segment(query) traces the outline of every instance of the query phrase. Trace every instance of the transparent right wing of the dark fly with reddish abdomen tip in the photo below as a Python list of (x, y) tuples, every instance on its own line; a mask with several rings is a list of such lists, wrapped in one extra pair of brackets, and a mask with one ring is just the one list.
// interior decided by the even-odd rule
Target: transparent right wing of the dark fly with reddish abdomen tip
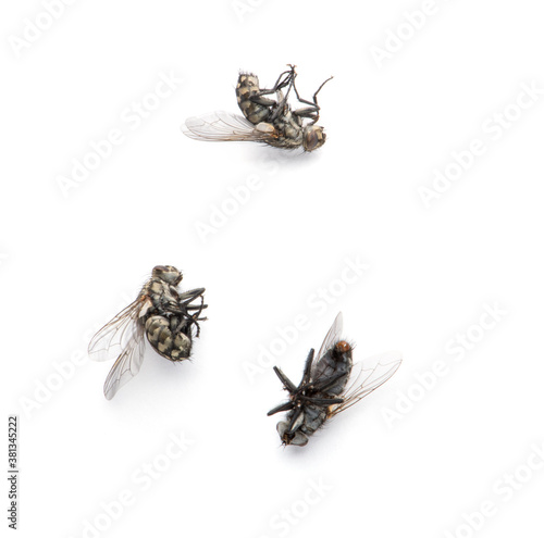
[(333, 405), (330, 416), (345, 411), (382, 386), (398, 370), (401, 362), (400, 353), (390, 351), (367, 359), (364, 363), (355, 364), (351, 371), (353, 380), (343, 395), (344, 402)]

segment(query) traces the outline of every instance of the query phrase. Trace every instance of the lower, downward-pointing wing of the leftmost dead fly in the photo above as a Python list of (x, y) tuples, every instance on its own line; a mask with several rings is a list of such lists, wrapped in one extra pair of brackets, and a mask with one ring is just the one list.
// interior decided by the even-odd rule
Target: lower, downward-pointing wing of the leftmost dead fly
[(103, 395), (107, 400), (111, 400), (118, 390), (139, 372), (144, 362), (144, 324), (137, 322), (134, 327), (132, 337), (106, 378)]

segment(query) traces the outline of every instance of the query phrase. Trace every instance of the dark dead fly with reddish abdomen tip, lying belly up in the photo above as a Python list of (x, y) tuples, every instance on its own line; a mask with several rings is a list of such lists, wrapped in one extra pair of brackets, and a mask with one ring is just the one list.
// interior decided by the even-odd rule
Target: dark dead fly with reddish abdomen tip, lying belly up
[(339, 313), (316, 360), (313, 349), (310, 350), (298, 386), (274, 366), (274, 372), (289, 393), (289, 400), (268, 414), (288, 412), (286, 420), (277, 423), (277, 433), (284, 445), (304, 447), (329, 418), (370, 395), (400, 366), (400, 356), (394, 352), (374, 358), (373, 366), (366, 367), (361, 363), (354, 366), (353, 350), (353, 345), (342, 339)]

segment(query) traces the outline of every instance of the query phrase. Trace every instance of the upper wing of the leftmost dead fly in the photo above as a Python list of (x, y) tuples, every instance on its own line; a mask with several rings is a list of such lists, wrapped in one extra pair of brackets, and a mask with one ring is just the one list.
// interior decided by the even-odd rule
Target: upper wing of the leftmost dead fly
[(94, 361), (107, 361), (118, 356), (134, 337), (137, 320), (147, 299), (138, 297), (108, 322), (90, 340), (88, 353)]

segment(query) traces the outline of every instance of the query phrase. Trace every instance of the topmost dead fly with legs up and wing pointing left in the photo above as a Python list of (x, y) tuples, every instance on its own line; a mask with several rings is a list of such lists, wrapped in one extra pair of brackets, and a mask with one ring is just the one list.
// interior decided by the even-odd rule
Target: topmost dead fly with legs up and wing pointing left
[[(323, 127), (316, 125), (320, 111), (318, 93), (332, 77), (317, 89), (310, 101), (299, 96), (296, 76), (295, 66), (289, 65), (289, 70), (277, 77), (271, 89), (262, 89), (257, 75), (240, 73), (236, 99), (244, 117), (230, 112), (214, 112), (189, 117), (182, 129), (196, 140), (254, 141), (284, 149), (302, 147), (305, 151), (321, 148), (326, 135)], [(304, 108), (292, 110), (287, 101), (290, 90)]]

